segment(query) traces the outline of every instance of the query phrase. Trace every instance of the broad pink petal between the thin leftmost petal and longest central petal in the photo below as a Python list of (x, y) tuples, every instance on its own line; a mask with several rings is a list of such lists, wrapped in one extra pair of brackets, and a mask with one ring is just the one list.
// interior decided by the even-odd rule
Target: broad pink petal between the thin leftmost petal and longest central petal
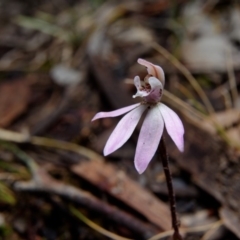
[(104, 156), (116, 151), (130, 138), (146, 108), (146, 105), (141, 105), (120, 120), (106, 143)]

